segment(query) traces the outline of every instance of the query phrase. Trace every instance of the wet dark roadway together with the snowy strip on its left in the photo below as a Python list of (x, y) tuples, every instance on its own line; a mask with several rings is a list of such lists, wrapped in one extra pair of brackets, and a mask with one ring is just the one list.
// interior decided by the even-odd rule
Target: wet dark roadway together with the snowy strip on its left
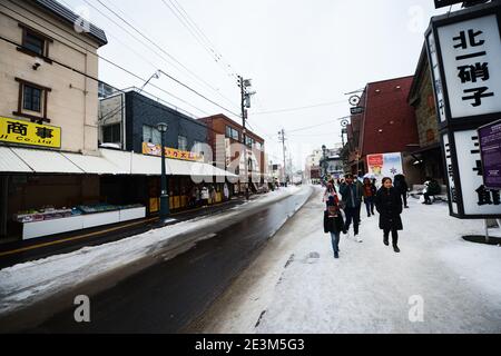
[[(282, 188), (209, 217), (4, 268), (0, 329), (45, 323), (39, 330), (175, 333), (205, 310), (312, 191)], [(75, 323), (77, 295), (92, 300), (89, 325)]]

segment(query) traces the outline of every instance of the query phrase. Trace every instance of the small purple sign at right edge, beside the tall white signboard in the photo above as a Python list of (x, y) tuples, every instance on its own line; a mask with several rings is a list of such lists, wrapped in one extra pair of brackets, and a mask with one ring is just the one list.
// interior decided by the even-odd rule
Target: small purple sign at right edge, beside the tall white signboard
[(488, 189), (501, 189), (501, 120), (479, 128), (483, 184)]

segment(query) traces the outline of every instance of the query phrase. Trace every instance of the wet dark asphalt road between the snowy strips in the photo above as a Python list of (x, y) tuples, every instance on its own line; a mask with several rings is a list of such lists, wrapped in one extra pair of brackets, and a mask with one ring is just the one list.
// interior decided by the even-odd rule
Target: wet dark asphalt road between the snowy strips
[(90, 323), (76, 323), (76, 306), (69, 306), (27, 332), (183, 333), (253, 261), (302, 199), (293, 195), (268, 205), (174, 259), (91, 297)]

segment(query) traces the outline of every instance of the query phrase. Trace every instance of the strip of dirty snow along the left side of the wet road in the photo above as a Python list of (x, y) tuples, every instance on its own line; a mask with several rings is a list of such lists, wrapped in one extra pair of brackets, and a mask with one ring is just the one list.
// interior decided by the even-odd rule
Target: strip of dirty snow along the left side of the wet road
[[(197, 241), (214, 236), (212, 228), (222, 228), (248, 211), (286, 198), (306, 194), (310, 187), (282, 188), (259, 196), (244, 205), (214, 216), (195, 218), (164, 228), (77, 251), (16, 265), (0, 270), (0, 317), (75, 288), (124, 266), (156, 258), (169, 259), (191, 248)], [(124, 276), (121, 276), (124, 277)]]

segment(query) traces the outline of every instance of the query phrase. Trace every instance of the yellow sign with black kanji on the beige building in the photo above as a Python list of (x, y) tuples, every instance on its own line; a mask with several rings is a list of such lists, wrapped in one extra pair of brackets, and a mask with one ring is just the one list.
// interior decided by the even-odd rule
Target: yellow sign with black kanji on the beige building
[(61, 128), (0, 117), (0, 141), (60, 148)]

